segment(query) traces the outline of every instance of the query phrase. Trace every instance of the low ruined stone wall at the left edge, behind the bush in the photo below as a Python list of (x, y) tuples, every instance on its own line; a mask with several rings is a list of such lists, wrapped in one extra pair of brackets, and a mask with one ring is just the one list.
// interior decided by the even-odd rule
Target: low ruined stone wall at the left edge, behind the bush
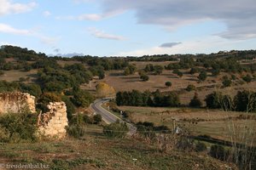
[(0, 94), (0, 114), (24, 110), (36, 112), (34, 96), (20, 92)]

